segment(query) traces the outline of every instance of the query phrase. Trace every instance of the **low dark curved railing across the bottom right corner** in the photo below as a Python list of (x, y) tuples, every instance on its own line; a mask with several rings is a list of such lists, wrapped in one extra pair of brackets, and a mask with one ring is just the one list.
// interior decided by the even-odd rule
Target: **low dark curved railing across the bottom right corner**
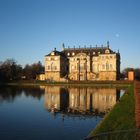
[(84, 140), (140, 140), (140, 129), (105, 132)]

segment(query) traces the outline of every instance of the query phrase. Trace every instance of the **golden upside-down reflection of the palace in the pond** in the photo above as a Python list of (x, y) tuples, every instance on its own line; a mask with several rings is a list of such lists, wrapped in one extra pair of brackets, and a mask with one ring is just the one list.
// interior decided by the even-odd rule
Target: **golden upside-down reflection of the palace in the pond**
[(44, 104), (51, 112), (106, 113), (119, 97), (115, 88), (46, 86)]

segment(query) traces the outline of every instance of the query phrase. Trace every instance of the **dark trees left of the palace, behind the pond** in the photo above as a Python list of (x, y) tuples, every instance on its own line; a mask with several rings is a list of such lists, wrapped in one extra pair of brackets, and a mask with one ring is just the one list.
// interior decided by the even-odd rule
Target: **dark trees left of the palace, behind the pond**
[(34, 80), (36, 75), (44, 72), (44, 66), (40, 61), (33, 64), (26, 64), (22, 67), (14, 59), (7, 59), (0, 62), (0, 81)]

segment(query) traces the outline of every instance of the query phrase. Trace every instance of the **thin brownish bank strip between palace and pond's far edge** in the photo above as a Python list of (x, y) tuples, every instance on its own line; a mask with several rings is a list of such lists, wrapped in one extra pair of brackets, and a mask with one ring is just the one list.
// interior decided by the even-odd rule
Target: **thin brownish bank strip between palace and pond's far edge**
[(130, 81), (69, 81), (69, 82), (46, 82), (46, 81), (11, 81), (0, 83), (6, 86), (94, 86), (94, 87), (128, 87)]

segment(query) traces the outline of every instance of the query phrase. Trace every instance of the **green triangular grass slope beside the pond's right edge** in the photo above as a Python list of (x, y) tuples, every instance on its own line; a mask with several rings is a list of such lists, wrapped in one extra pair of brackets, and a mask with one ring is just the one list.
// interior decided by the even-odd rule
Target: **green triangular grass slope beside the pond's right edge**
[(131, 85), (111, 112), (105, 116), (103, 121), (89, 134), (89, 136), (94, 136), (108, 131), (135, 128), (135, 105), (133, 92), (133, 85)]

